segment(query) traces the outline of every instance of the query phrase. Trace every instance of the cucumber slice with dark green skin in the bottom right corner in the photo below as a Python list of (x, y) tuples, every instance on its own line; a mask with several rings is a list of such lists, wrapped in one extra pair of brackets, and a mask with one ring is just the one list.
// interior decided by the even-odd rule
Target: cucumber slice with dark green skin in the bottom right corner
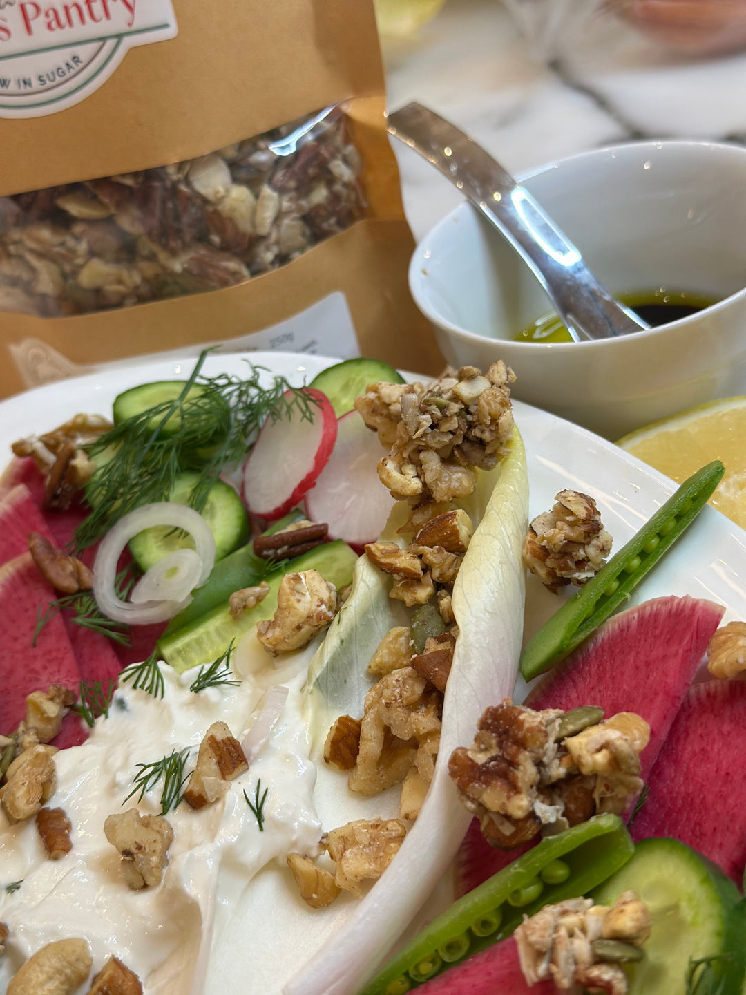
[[(746, 970), (746, 918), (738, 889), (723, 872), (678, 840), (643, 840), (621, 871), (593, 893), (612, 904), (635, 892), (648, 905), (652, 930), (645, 956), (625, 965), (629, 995), (687, 995), (739, 992)], [(690, 965), (713, 958), (712, 983), (687, 987)]]

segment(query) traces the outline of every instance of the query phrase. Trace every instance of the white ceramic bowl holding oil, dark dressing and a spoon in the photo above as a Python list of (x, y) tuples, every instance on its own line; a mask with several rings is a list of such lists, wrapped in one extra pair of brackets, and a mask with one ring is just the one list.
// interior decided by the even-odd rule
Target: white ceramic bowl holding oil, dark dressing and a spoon
[(466, 202), (418, 246), (410, 287), (455, 366), (502, 358), (513, 393), (616, 439), (715, 397), (746, 393), (746, 148), (636, 142), (522, 177), (614, 294), (665, 287), (718, 302), (595, 342), (513, 340), (552, 309), (502, 237)]

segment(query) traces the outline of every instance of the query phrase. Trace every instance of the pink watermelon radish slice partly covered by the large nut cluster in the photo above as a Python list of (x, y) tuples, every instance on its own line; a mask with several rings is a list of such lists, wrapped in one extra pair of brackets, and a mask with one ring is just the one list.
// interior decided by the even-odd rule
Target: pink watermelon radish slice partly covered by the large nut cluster
[[(647, 780), (723, 611), (711, 601), (667, 597), (621, 612), (540, 679), (525, 703), (566, 711), (596, 704), (607, 715), (636, 711), (651, 726), (641, 754)], [(457, 859), (457, 894), (470, 892), (523, 852), (492, 849), (472, 822)]]

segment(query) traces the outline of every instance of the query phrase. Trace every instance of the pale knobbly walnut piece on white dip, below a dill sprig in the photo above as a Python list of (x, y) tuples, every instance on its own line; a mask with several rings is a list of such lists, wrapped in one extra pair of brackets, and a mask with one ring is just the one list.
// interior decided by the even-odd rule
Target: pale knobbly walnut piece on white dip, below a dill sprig
[(135, 808), (109, 815), (103, 823), (106, 839), (121, 854), (124, 881), (133, 891), (159, 885), (173, 843), (169, 822), (158, 815), (140, 815)]

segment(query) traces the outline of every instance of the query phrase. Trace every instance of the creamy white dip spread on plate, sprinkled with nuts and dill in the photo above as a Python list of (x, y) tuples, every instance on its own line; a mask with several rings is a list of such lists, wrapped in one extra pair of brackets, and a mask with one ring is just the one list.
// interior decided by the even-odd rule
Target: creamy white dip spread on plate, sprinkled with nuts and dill
[[(88, 741), (56, 754), (58, 787), (48, 804), (63, 808), (73, 824), (73, 850), (62, 860), (47, 859), (33, 819), (10, 826), (0, 814), (0, 920), (10, 931), (0, 958), (0, 992), (30, 954), (65, 936), (88, 940), (93, 971), (112, 954), (119, 957), (148, 995), (202, 990), (216, 911), (219, 920), (230, 918), (254, 875), (276, 858), (284, 881), (288, 853), (318, 849), (315, 767), (301, 716), (307, 660), (305, 654), (293, 655), (294, 664), (288, 661), (279, 671), (264, 664), (262, 673), (236, 687), (199, 694), (189, 691), (195, 672), (180, 677), (165, 665), (162, 699), (120, 687), (108, 717), (96, 721)], [(270, 741), (249, 770), (230, 782), (221, 801), (199, 812), (182, 803), (168, 813), (174, 840), (163, 882), (131, 891), (103, 822), (132, 806), (159, 813), (162, 785), (141, 802), (136, 796), (124, 802), (137, 765), (189, 746), (186, 770), (191, 770), (212, 722), (227, 722), (240, 739), (266, 686), (280, 682), (289, 694)], [(246, 790), (254, 800), (260, 778), (262, 793), (268, 791), (263, 832), (244, 798)], [(7, 885), (18, 881), (19, 890), (7, 894)], [(312, 915), (309, 909), (305, 913)], [(247, 925), (244, 918), (244, 929)]]

